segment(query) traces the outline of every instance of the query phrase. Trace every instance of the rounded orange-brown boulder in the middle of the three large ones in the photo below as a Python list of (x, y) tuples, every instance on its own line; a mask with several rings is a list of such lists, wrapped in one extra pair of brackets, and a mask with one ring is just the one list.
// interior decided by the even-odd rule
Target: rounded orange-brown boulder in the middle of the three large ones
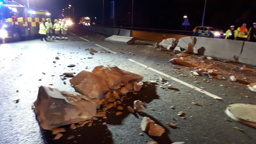
[(70, 83), (76, 92), (90, 98), (100, 99), (110, 91), (104, 78), (85, 70), (70, 79)]

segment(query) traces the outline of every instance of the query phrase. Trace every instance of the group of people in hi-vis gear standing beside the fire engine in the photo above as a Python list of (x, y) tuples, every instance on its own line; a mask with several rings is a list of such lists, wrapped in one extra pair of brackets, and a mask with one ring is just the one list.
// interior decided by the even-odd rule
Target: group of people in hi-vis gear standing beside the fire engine
[(41, 41), (46, 41), (46, 36), (48, 40), (51, 38), (53, 40), (67, 40), (67, 31), (68, 24), (66, 19), (55, 19), (54, 24), (52, 24), (49, 18), (46, 19), (46, 22), (42, 21), (39, 25), (39, 34)]

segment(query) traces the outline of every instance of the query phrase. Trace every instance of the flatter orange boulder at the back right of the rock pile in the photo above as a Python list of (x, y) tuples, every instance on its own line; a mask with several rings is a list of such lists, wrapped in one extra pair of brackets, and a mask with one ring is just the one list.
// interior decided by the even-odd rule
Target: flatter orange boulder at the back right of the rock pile
[(106, 80), (109, 87), (117, 85), (120, 82), (140, 82), (143, 79), (141, 75), (121, 70), (118, 67), (97, 66), (92, 72), (102, 76)]

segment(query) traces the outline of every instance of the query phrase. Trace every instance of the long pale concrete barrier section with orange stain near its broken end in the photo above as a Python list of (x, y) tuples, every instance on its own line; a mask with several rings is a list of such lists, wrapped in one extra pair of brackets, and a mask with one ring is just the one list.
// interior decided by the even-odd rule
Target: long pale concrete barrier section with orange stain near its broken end
[(180, 38), (177, 47), (200, 55), (233, 61), (240, 56), (243, 41), (192, 36)]

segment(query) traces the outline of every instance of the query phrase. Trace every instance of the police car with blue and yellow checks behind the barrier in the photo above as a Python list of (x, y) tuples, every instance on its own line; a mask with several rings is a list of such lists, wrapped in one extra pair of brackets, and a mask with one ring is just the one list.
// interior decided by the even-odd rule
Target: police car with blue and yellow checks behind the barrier
[(210, 37), (210, 38), (225, 38), (225, 33), (215, 30), (213, 27), (195, 27), (193, 30), (194, 36)]

